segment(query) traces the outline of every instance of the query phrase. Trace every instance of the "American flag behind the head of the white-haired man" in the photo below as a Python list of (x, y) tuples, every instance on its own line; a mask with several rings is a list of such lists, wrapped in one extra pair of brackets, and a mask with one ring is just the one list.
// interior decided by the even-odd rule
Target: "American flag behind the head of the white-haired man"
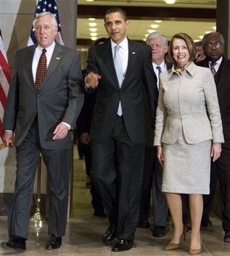
[[(56, 0), (38, 0), (38, 4), (35, 10), (35, 16), (43, 12), (50, 12), (55, 15), (58, 22), (58, 34), (56, 36), (56, 40), (59, 44), (64, 45), (64, 42), (61, 36), (61, 24), (58, 16), (58, 5), (56, 3)], [(34, 28), (32, 25), (30, 38), (27, 42), (27, 46), (35, 45), (36, 43), (37, 43), (37, 40), (35, 39)]]

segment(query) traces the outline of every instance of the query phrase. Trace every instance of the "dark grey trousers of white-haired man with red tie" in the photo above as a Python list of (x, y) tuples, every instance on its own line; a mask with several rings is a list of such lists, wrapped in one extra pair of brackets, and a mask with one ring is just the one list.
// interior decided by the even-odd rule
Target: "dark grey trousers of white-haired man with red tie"
[(67, 223), (72, 149), (46, 150), (40, 148), (35, 122), (31, 125), (24, 141), (16, 147), (15, 191), (8, 209), (9, 237), (18, 235), (27, 239), (33, 184), (40, 153), (47, 166), (50, 190), (48, 233), (62, 237), (65, 234)]

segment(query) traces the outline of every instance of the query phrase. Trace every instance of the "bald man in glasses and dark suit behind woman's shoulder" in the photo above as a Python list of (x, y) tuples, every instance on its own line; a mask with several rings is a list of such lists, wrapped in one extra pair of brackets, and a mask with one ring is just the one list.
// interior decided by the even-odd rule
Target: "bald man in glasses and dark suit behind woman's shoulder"
[[(225, 232), (223, 241), (230, 243), (230, 60), (223, 56), (224, 39), (220, 33), (212, 32), (206, 34), (203, 36), (202, 43), (206, 59), (197, 62), (197, 65), (211, 68), (214, 74), (225, 140), (220, 158), (212, 163), (210, 196), (212, 193), (214, 194), (215, 181), (212, 183), (212, 180), (217, 175), (220, 183), (220, 206), (222, 209), (223, 230)], [(204, 198), (204, 203), (206, 202), (210, 205), (209, 196), (206, 197), (207, 200)], [(210, 210), (211, 207), (212, 204)], [(205, 205), (204, 209), (209, 210)]]

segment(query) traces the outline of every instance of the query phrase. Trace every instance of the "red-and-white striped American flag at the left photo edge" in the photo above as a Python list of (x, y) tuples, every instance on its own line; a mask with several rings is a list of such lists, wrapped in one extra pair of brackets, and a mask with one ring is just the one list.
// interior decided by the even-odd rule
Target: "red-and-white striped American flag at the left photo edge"
[(0, 148), (3, 148), (2, 136), (2, 120), (4, 107), (7, 102), (7, 94), (10, 87), (10, 68), (7, 62), (7, 53), (4, 50), (4, 45), (0, 30)]

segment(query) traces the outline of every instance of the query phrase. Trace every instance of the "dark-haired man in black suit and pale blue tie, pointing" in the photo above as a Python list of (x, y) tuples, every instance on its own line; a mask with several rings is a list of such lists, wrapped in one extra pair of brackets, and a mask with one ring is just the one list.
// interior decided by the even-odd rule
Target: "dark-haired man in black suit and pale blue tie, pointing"
[(90, 131), (92, 178), (109, 217), (103, 241), (117, 237), (112, 251), (121, 252), (132, 248), (138, 226), (146, 142), (143, 90), (154, 125), (158, 88), (151, 47), (126, 38), (124, 10), (112, 7), (104, 22), (110, 40), (89, 48), (85, 78), (89, 91), (97, 88)]

